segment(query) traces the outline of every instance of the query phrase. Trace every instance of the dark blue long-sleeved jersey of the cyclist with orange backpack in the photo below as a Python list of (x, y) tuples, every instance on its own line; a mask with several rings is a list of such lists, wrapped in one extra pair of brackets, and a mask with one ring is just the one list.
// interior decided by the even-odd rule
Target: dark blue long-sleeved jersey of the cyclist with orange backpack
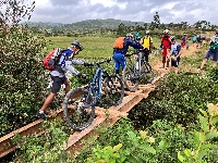
[(130, 39), (129, 37), (124, 38), (124, 46), (123, 49), (119, 50), (119, 49), (114, 49), (113, 53), (122, 53), (122, 54), (126, 54), (128, 49), (130, 47), (133, 47), (134, 49), (143, 49), (143, 46), (140, 42), (136, 42), (132, 39)]

